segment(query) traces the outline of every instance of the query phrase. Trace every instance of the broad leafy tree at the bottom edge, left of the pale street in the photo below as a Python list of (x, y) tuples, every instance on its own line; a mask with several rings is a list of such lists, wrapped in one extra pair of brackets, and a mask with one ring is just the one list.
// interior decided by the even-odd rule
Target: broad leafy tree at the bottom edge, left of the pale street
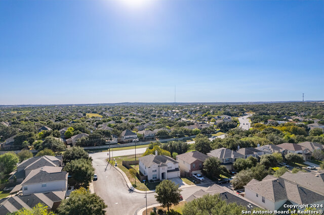
[(107, 205), (95, 193), (90, 193), (85, 188), (71, 192), (69, 198), (64, 199), (57, 208), (58, 215), (104, 215)]

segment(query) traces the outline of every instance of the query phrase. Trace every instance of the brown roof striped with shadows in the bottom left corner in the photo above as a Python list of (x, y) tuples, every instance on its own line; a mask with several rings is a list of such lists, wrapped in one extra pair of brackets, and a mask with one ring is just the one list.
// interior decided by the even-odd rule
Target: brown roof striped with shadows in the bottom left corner
[(31, 209), (38, 203), (47, 206), (48, 211), (56, 210), (65, 198), (65, 191), (32, 193), (0, 199), (0, 215), (13, 213), (21, 208)]

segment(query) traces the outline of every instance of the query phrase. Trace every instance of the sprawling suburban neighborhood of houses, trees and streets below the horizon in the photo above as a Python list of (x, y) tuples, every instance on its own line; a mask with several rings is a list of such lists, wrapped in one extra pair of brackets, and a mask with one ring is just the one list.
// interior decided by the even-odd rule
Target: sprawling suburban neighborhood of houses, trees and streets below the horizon
[(94, 201), (97, 214), (194, 214), (193, 205), (214, 198), (234, 211), (321, 205), (324, 136), (312, 124), (324, 124), (323, 107), (4, 106), (0, 214), (69, 214)]

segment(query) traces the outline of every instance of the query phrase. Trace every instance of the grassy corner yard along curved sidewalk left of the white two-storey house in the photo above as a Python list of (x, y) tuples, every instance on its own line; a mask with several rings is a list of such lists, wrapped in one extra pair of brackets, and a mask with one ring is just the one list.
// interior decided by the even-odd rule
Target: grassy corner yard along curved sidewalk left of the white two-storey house
[[(123, 166), (123, 160), (124, 161), (131, 161), (131, 160), (135, 160), (135, 156), (134, 155), (128, 155), (128, 156), (119, 156), (119, 157), (114, 157), (116, 162), (117, 162), (117, 167), (123, 171), (126, 176), (128, 177), (128, 179), (130, 180), (130, 182), (132, 183), (133, 187), (138, 189), (138, 190), (145, 190), (145, 188), (147, 188), (147, 190), (155, 190), (155, 187), (159, 184), (159, 182), (146, 182), (145, 184), (142, 183), (140, 180), (138, 180), (138, 178), (136, 177), (136, 186), (135, 186), (135, 178), (130, 174), (129, 170)], [(138, 160), (139, 157), (136, 156), (136, 159)], [(111, 160), (110, 164), (114, 165), (115, 163)], [(139, 172), (139, 166), (138, 165), (132, 165), (132, 167)]]

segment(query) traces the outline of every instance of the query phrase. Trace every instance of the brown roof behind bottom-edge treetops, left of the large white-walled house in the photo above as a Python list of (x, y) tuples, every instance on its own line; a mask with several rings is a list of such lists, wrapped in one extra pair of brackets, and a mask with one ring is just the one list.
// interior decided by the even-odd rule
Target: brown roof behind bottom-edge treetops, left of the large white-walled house
[(241, 206), (245, 206), (247, 210), (252, 210), (253, 208), (256, 208), (255, 204), (253, 202), (248, 201), (248, 199), (243, 198), (240, 195), (232, 194), (224, 189), (224, 187), (221, 187), (217, 184), (214, 184), (210, 186), (206, 191), (203, 189), (198, 190), (197, 192), (193, 193), (191, 196), (186, 198), (186, 202), (190, 202), (194, 199), (203, 197), (204, 195), (215, 195), (218, 194), (220, 198), (224, 201), (226, 201), (227, 204), (229, 203), (236, 203)]

